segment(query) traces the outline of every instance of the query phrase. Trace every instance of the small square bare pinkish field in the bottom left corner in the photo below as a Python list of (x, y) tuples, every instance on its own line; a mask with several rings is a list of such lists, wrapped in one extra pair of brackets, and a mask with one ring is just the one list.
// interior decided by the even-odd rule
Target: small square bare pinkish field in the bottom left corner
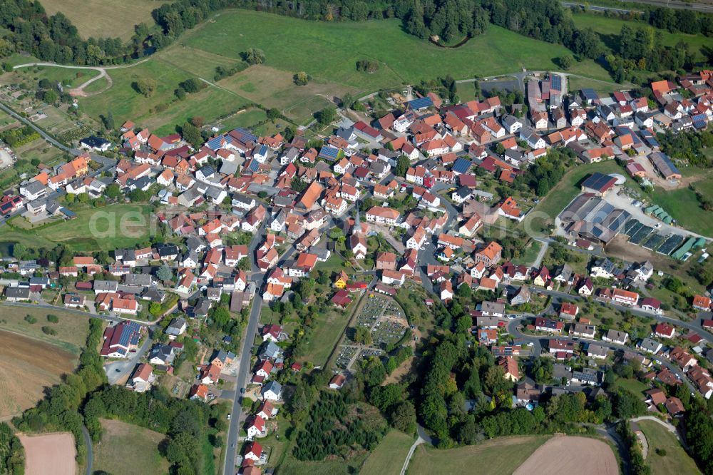
[(19, 435), (19, 439), (25, 448), (26, 475), (76, 474), (76, 450), (72, 434)]

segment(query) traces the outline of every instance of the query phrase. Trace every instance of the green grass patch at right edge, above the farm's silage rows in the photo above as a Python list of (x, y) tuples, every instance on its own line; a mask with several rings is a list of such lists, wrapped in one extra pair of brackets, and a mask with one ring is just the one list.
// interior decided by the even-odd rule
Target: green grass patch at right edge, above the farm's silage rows
[[(710, 196), (713, 179), (699, 181), (694, 186)], [(679, 226), (704, 236), (713, 236), (713, 213), (702, 208), (696, 193), (687, 186), (678, 190), (655, 188), (650, 198), (653, 203), (664, 208)]]

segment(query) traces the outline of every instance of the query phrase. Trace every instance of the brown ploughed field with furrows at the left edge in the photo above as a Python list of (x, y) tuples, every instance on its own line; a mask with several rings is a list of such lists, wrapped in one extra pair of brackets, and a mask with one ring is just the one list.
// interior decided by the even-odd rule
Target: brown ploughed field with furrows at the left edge
[[(38, 327), (47, 325), (38, 320)], [(0, 417), (34, 407), (47, 387), (74, 369), (74, 354), (39, 339), (0, 330)]]

